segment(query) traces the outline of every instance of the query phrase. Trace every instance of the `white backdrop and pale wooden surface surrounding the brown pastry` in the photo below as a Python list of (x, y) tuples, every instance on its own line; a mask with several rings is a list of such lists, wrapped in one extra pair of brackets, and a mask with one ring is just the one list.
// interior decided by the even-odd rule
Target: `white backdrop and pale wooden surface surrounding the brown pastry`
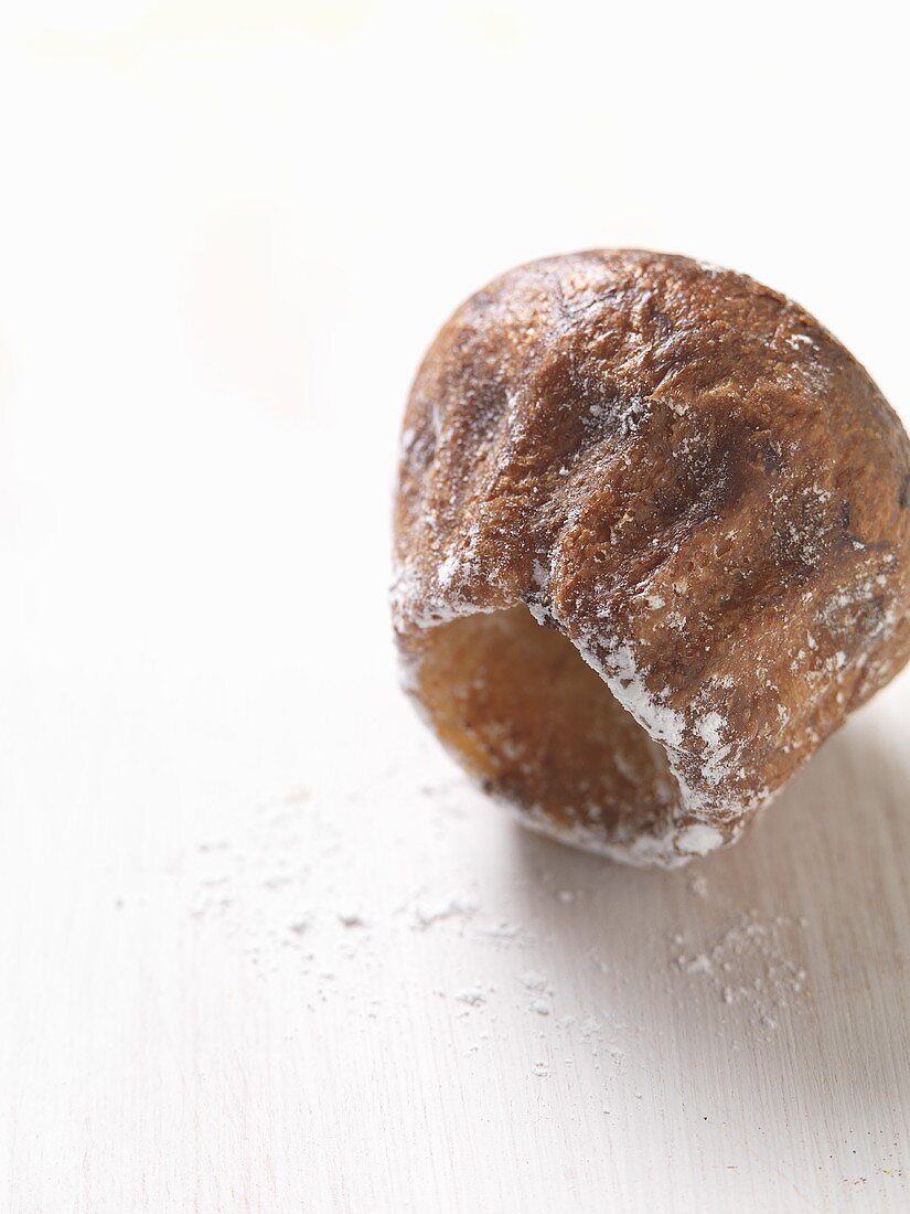
[(394, 682), (396, 430), (514, 262), (689, 253), (906, 413), (898, 6), (0, 17), (0, 1208), (905, 1210), (908, 676), (615, 868)]

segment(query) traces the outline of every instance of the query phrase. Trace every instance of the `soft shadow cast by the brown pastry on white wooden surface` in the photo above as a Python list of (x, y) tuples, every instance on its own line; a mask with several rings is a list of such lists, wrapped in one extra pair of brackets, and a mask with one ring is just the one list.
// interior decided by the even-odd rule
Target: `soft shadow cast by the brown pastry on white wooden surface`
[(641, 1067), (713, 1113), (735, 1054), (726, 1112), (753, 1100), (819, 1147), (825, 1117), (865, 1131), (910, 1107), (910, 755), (883, 721), (861, 714), (739, 844), (684, 869), (516, 829), (557, 995), (635, 1026)]

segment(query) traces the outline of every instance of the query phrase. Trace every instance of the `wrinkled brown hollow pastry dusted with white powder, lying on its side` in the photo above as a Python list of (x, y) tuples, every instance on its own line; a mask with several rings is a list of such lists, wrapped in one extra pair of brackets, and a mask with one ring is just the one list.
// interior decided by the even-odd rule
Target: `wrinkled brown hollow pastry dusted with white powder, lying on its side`
[(910, 442), (743, 274), (550, 257), (472, 296), (402, 436), (406, 686), (523, 819), (633, 863), (730, 843), (910, 656)]

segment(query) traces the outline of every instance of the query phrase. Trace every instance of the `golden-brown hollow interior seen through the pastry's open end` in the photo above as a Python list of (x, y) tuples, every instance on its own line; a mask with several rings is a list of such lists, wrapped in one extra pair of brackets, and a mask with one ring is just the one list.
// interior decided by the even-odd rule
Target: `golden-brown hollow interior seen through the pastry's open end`
[(678, 805), (664, 750), (557, 629), (524, 606), (426, 634), (420, 699), (484, 787), (564, 827), (660, 833)]

